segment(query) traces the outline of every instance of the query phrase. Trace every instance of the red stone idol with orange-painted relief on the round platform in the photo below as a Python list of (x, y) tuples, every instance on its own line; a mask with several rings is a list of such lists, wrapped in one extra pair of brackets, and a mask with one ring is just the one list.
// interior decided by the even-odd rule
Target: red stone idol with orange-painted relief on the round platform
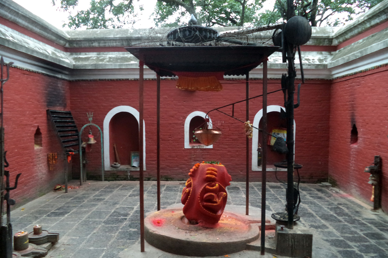
[(197, 163), (183, 188), (183, 213), (191, 223), (212, 227), (218, 223), (226, 206), (226, 186), (232, 177), (221, 163)]

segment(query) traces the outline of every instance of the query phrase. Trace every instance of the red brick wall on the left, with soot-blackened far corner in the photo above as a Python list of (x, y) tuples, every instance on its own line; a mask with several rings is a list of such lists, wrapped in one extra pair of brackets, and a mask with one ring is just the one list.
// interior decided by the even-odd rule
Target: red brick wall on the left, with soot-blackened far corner
[[(19, 205), (64, 183), (64, 162), (60, 141), (53, 131), (46, 110), (69, 110), (69, 83), (65, 80), (11, 68), (4, 84), (4, 131), (6, 158), (11, 186), (22, 173), (11, 198)], [(39, 126), (42, 146), (34, 145)], [(58, 163), (49, 170), (48, 153), (58, 153)], [(70, 170), (70, 169), (69, 169)]]

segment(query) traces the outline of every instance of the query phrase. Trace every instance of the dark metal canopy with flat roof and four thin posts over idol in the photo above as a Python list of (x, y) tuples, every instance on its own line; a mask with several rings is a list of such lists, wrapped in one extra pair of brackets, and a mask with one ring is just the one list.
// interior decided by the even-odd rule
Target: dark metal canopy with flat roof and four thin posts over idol
[[(175, 76), (174, 71), (203, 72), (225, 71), (225, 75), (246, 76), (246, 98), (249, 98), (249, 71), (263, 63), (263, 128), (267, 126), (267, 58), (274, 53), (277, 46), (194, 46), (194, 47), (128, 47), (131, 54), (139, 59), (139, 115), (144, 119), (144, 65), (157, 74), (157, 193), (158, 211), (160, 210), (160, 83), (161, 76)], [(191, 53), (188, 55), (188, 53)], [(195, 55), (193, 55), (195, 53)], [(218, 55), (217, 55), (218, 54)], [(169, 57), (166, 59), (166, 56)], [(222, 58), (220, 58), (222, 56)], [(210, 60), (209, 60), (210, 58)], [(204, 61), (208, 59), (208, 62)], [(198, 62), (202, 65), (198, 65)], [(218, 65), (217, 62), (222, 63)], [(186, 65), (184, 65), (186, 64)], [(205, 65), (203, 65), (205, 64)], [(222, 68), (220, 68), (222, 66)], [(177, 70), (179, 69), (179, 70)], [(217, 70), (218, 69), (218, 70)], [(246, 118), (249, 116), (249, 102), (246, 102)], [(143, 155), (143, 125), (139, 132), (140, 158), (140, 246), (145, 251), (144, 233), (144, 155)], [(263, 134), (265, 141), (266, 134)], [(246, 141), (246, 214), (249, 213), (249, 141)], [(266, 152), (263, 152), (262, 167), (262, 207), (266, 203)], [(265, 249), (265, 208), (261, 209), (261, 252)]]

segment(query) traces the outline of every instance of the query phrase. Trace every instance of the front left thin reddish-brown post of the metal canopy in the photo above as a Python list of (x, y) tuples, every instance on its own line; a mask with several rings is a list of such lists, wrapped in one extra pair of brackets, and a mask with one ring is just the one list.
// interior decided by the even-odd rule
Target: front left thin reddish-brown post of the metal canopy
[(144, 155), (143, 155), (143, 100), (144, 100), (144, 57), (139, 61), (139, 159), (140, 159), (140, 248), (144, 252)]

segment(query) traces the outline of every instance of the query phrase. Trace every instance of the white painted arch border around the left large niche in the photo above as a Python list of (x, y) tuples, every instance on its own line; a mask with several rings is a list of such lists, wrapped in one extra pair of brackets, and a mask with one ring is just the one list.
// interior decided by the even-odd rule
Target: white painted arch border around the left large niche
[[(117, 113), (120, 113), (120, 112), (127, 112), (127, 113), (130, 113), (131, 115), (133, 115), (138, 124), (140, 125), (139, 123), (139, 119), (140, 119), (140, 114), (139, 114), (139, 111), (137, 111), (135, 108), (131, 107), (131, 106), (116, 106), (114, 107), (111, 111), (108, 112), (108, 114), (105, 116), (105, 119), (104, 119), (104, 167), (105, 167), (105, 170), (120, 170), (120, 169), (116, 169), (116, 168), (112, 168), (111, 167), (111, 157), (110, 157), (110, 152), (109, 152), (109, 146), (110, 146), (110, 142), (109, 142), (109, 123), (111, 122), (111, 119), (113, 118), (113, 116)], [(146, 124), (143, 120), (143, 157), (144, 157), (144, 160), (143, 160), (143, 164), (144, 164), (144, 170), (146, 170)], [(130, 169), (125, 169), (125, 170), (130, 170)]]

